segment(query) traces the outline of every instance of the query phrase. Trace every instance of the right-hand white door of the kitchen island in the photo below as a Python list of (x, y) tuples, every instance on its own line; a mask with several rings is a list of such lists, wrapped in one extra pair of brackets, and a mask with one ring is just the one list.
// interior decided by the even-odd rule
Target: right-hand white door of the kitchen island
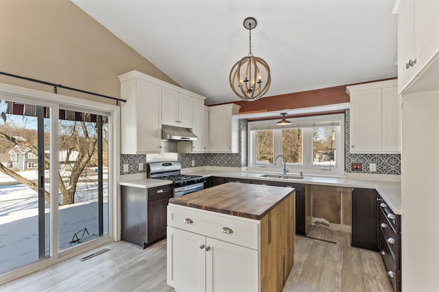
[(206, 291), (259, 291), (258, 252), (206, 237)]

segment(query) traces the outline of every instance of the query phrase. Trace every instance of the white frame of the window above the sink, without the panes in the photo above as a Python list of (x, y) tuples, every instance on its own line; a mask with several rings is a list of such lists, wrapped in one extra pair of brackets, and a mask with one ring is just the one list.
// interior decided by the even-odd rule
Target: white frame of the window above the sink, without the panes
[[(274, 158), (282, 154), (282, 135), (283, 129), (301, 128), (302, 129), (302, 163), (287, 163), (289, 173), (303, 172), (307, 175), (344, 175), (345, 172), (345, 114), (323, 114), (310, 117), (289, 118), (292, 123), (286, 126), (278, 126), (273, 120), (252, 121), (248, 123), (248, 167), (249, 171), (258, 172), (279, 172), (283, 170), (283, 165), (268, 165), (256, 163), (255, 157), (255, 132), (258, 130), (274, 130), (273, 132), (273, 161)], [(339, 123), (336, 126), (336, 145), (337, 156), (335, 165), (322, 167), (313, 163), (313, 127), (323, 127)]]

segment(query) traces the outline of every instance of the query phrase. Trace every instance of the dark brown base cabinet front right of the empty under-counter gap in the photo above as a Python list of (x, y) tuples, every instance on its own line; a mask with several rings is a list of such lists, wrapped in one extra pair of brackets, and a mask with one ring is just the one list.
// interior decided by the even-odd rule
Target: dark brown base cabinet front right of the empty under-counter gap
[(378, 250), (377, 195), (374, 189), (352, 190), (352, 246)]

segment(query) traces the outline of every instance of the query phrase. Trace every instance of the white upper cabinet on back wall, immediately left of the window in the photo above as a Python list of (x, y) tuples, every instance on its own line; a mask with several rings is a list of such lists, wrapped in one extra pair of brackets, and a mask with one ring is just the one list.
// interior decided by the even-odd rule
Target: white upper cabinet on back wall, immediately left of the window
[(209, 151), (213, 153), (238, 153), (238, 119), (240, 106), (223, 104), (209, 107)]

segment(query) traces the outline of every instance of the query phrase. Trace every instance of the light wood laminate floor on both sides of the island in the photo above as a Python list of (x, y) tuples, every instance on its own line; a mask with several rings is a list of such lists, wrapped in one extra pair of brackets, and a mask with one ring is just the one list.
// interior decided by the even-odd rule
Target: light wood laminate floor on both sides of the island
[[(294, 267), (283, 291), (392, 291), (378, 252), (350, 246), (350, 234), (311, 228), (296, 236)], [(84, 262), (70, 258), (43, 271), (3, 284), (0, 291), (174, 291), (166, 284), (166, 241), (140, 250), (121, 241)], [(95, 251), (97, 251), (95, 250)]]

